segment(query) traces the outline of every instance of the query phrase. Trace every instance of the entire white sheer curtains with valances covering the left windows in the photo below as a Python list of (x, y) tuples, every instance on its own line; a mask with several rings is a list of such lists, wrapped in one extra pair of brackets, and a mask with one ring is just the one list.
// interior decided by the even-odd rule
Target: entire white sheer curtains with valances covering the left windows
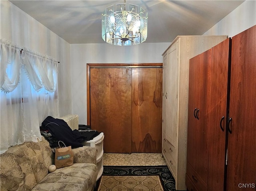
[(59, 117), (58, 62), (1, 40), (0, 153), (23, 142), (41, 140), (42, 121)]

